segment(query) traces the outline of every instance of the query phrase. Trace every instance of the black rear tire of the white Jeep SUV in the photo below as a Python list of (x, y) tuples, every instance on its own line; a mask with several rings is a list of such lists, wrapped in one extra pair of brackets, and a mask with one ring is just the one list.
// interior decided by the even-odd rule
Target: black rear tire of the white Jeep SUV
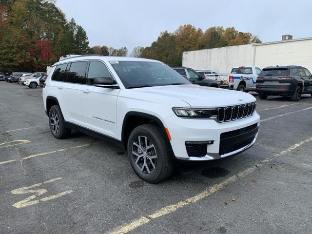
[[(52, 125), (52, 123), (55, 122), (54, 119), (59, 120), (58, 129), (56, 129), (55, 125)], [(59, 105), (52, 106), (50, 111), (49, 111), (49, 126), (50, 126), (51, 133), (52, 133), (53, 137), (55, 137), (55, 138), (64, 139), (64, 138), (70, 136), (71, 129), (64, 127), (64, 118), (63, 118), (63, 115), (59, 109)]]

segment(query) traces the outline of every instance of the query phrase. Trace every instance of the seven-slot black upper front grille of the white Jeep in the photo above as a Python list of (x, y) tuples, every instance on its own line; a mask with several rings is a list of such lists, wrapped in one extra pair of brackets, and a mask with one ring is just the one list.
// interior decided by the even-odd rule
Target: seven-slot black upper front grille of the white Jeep
[(228, 106), (218, 108), (218, 122), (229, 122), (236, 119), (246, 118), (254, 115), (255, 102), (247, 103), (245, 105)]

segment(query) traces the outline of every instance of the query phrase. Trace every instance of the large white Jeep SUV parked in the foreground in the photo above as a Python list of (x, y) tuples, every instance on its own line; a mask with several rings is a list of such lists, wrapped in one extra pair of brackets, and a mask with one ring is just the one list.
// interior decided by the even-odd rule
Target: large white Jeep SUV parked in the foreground
[(139, 177), (156, 183), (180, 160), (207, 161), (251, 147), (255, 98), (191, 84), (150, 59), (79, 56), (53, 65), (43, 102), (56, 138), (71, 129), (123, 147)]

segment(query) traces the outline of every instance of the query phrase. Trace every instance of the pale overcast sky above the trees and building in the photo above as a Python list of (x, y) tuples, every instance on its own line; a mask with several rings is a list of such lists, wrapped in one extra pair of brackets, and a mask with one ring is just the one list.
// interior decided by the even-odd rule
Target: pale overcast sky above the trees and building
[(87, 32), (89, 46), (150, 46), (163, 31), (192, 24), (235, 27), (263, 42), (312, 37), (311, 0), (57, 0)]

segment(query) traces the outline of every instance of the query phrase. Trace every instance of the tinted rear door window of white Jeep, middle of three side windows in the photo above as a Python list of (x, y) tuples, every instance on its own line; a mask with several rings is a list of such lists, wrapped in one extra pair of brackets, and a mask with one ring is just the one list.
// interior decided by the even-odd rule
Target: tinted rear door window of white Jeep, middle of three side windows
[(69, 68), (67, 82), (75, 84), (86, 84), (87, 61), (72, 62)]

